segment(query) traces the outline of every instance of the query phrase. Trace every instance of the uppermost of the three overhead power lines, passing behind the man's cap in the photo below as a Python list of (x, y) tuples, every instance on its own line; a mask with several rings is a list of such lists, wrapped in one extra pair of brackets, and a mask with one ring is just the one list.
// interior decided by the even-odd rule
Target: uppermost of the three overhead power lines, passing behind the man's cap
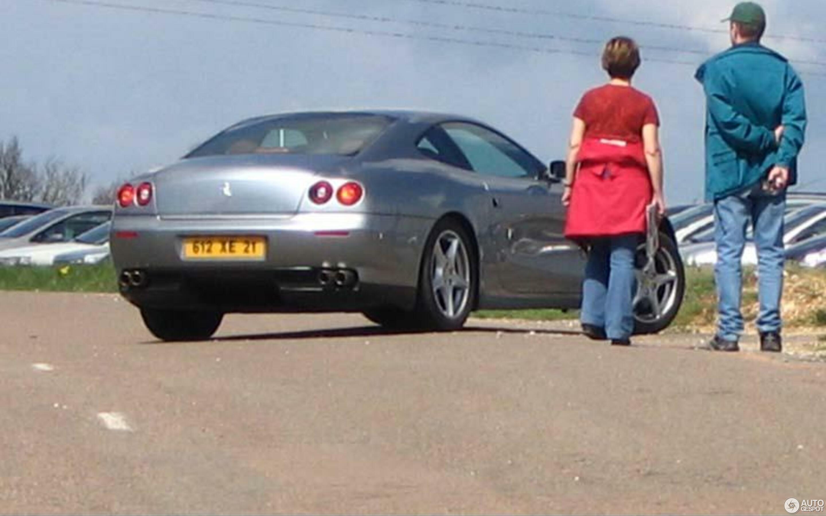
[[(466, 2), (463, 0), (408, 0), (409, 2), (429, 3), (433, 5), (466, 7), (470, 9), (477, 9), (482, 11), (508, 12), (511, 14), (527, 14), (532, 16), (549, 16), (549, 17), (564, 17), (575, 20), (590, 20), (590, 21), (605, 21), (608, 23), (624, 23), (635, 26), (648, 26), (660, 29), (674, 29), (677, 31), (694, 31), (705, 32), (708, 34), (728, 34), (729, 31), (725, 29), (710, 29), (709, 27), (681, 25), (678, 23), (664, 23), (660, 21), (644, 21), (634, 20), (633, 18), (615, 18), (615, 17), (601, 17), (590, 14), (577, 14), (575, 12), (564, 11), (549, 11), (547, 9), (536, 9), (528, 7), (510, 7), (501, 6), (491, 3), (482, 2)], [(808, 43), (826, 43), (826, 39), (813, 38), (807, 36), (790, 36), (790, 35), (766, 35), (763, 36), (771, 40), (794, 40), (805, 41)]]

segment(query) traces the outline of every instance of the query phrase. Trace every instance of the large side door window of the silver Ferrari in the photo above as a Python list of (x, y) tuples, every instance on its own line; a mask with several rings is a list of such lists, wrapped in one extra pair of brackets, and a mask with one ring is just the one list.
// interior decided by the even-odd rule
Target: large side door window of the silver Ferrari
[(536, 177), (535, 160), (501, 135), (461, 122), (445, 124), (443, 128), (477, 173), (500, 178)]

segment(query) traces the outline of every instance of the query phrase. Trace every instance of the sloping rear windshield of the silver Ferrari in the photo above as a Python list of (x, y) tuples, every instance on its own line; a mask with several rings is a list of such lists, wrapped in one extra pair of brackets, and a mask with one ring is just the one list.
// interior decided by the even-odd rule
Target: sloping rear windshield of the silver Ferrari
[(387, 116), (354, 114), (267, 118), (234, 125), (186, 157), (231, 154), (358, 154), (375, 140), (391, 121)]

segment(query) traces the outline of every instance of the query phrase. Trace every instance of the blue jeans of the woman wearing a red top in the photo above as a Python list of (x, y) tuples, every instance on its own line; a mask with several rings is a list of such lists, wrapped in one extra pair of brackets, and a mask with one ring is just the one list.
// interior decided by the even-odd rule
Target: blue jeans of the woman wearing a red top
[(636, 234), (593, 239), (582, 284), (582, 324), (605, 328), (612, 340), (634, 332)]

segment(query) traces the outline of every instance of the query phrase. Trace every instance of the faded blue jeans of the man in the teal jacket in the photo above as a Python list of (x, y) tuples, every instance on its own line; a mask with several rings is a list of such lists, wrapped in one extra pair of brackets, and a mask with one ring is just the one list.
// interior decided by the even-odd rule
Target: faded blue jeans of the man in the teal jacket
[(786, 192), (777, 195), (755, 188), (748, 195), (728, 196), (714, 202), (714, 240), (717, 265), (714, 276), (719, 300), (717, 334), (729, 341), (743, 334), (743, 248), (746, 229), (752, 223), (757, 247), (757, 274), (760, 292), (760, 315), (757, 329), (761, 333), (780, 332), (780, 301), (783, 294), (783, 215)]

